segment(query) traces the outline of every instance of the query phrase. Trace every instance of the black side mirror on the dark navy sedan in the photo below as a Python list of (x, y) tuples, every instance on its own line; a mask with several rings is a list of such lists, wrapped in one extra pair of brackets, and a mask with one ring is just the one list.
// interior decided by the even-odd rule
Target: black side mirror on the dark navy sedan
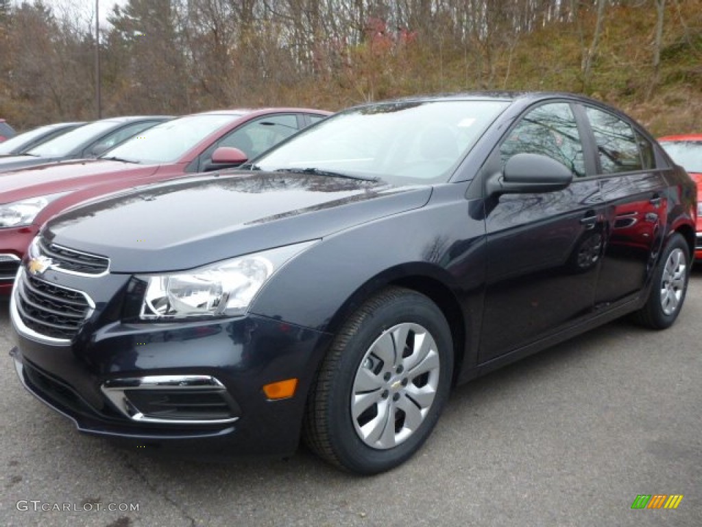
[(541, 154), (510, 157), (502, 173), (485, 183), (486, 195), (531, 194), (563, 190), (573, 181), (573, 172), (564, 164)]

